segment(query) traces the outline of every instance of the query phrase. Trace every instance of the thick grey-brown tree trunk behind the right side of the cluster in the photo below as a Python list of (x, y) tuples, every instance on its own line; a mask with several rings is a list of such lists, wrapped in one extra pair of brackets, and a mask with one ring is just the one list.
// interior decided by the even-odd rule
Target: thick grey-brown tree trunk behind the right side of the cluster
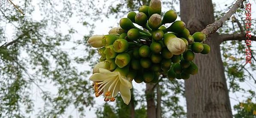
[[(214, 22), (211, 0), (180, 0), (180, 12), (190, 34)], [(188, 118), (232, 118), (217, 35), (210, 35), (206, 42), (211, 47), (209, 54), (195, 55), (198, 74), (185, 81)]]

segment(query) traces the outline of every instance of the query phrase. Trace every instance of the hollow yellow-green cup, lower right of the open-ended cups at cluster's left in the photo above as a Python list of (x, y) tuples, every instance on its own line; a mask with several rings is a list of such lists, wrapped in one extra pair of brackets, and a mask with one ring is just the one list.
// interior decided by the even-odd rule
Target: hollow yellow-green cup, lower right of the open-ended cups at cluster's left
[(123, 68), (125, 67), (126, 65), (128, 65), (128, 63), (131, 61), (131, 57), (128, 53), (119, 53), (117, 56), (116, 56), (116, 65), (119, 67), (119, 68)]

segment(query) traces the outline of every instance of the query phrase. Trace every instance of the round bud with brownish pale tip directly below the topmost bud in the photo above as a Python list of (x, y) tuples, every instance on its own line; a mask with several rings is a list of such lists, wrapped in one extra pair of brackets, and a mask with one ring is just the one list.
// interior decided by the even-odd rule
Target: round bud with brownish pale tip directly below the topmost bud
[(152, 16), (150, 16), (148, 23), (149, 27), (151, 27), (152, 29), (158, 29), (162, 25), (161, 15), (153, 14)]

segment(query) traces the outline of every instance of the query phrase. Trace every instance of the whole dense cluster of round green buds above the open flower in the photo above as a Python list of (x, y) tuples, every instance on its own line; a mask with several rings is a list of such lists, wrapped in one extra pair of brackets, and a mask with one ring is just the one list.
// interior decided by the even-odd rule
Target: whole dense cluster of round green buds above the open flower
[[(100, 61), (107, 62), (107, 69), (128, 68), (126, 76), (136, 83), (156, 83), (160, 75), (186, 80), (190, 74), (197, 74), (198, 67), (192, 60), (194, 53), (210, 52), (210, 46), (202, 43), (206, 36), (202, 32), (190, 35), (185, 23), (176, 21), (174, 10), (162, 18), (158, 1), (141, 6), (138, 13), (129, 12), (127, 18), (120, 20), (119, 28), (102, 36), (103, 47), (98, 51)], [(164, 24), (171, 26), (166, 28)]]

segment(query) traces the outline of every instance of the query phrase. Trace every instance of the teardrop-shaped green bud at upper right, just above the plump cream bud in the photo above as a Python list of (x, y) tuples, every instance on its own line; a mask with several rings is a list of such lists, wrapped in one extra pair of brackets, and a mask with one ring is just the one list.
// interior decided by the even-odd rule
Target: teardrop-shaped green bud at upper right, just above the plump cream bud
[(180, 33), (186, 28), (186, 24), (183, 21), (175, 21), (170, 27), (164, 31)]

